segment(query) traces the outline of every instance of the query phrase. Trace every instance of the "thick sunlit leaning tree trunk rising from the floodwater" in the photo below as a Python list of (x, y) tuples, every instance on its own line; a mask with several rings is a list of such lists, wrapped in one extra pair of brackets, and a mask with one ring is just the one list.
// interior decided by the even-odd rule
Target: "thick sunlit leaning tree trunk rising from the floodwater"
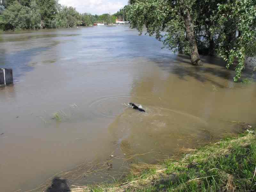
[(195, 33), (194, 33), (194, 28), (193, 28), (193, 23), (192, 19), (190, 16), (189, 10), (186, 8), (184, 5), (184, 1), (181, 0), (181, 14), (183, 15), (183, 19), (185, 22), (185, 28), (186, 28), (186, 37), (189, 42), (189, 47), (190, 47), (190, 60), (193, 65), (202, 65), (202, 61), (200, 60), (200, 56), (197, 50), (196, 46), (196, 38), (195, 38)]

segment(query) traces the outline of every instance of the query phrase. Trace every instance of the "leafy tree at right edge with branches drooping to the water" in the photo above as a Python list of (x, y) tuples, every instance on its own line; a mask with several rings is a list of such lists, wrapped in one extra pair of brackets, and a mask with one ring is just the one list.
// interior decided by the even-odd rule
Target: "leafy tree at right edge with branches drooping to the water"
[(218, 54), (227, 61), (227, 68), (237, 59), (237, 81), (245, 68), (245, 58), (256, 57), (256, 1), (227, 0), (217, 6), (211, 17), (217, 23), (212, 31), (218, 35)]

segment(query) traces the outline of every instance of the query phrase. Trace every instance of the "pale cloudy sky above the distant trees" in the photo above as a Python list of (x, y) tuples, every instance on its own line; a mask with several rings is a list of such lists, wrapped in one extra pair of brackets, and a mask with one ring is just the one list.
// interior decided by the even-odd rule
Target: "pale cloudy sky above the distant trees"
[(101, 15), (103, 13), (114, 14), (119, 11), (128, 0), (59, 0), (59, 3), (76, 8), (80, 13)]

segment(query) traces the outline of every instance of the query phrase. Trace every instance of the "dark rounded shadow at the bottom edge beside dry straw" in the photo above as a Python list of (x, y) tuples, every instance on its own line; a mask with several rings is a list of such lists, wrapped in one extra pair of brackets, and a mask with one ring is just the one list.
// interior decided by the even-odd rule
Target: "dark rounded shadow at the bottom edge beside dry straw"
[(52, 185), (47, 188), (46, 192), (70, 192), (67, 180), (55, 177), (52, 180)]

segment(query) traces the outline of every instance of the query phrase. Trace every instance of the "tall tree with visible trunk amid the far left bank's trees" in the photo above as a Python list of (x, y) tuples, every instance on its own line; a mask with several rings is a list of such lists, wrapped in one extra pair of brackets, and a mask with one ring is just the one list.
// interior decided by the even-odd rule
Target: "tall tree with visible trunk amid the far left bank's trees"
[(57, 13), (58, 0), (36, 0), (36, 4), (40, 9), (41, 28), (51, 27), (52, 20)]

